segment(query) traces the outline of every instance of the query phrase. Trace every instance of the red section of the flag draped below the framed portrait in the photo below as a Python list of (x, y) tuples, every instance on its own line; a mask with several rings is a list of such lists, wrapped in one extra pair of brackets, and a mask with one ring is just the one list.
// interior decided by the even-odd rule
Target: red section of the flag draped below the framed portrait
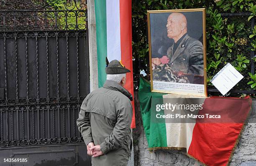
[[(246, 98), (206, 98), (198, 114), (220, 115), (221, 119), (197, 120), (188, 154), (207, 166), (226, 166), (236, 146), (243, 124), (251, 110), (252, 100)], [(214, 122), (215, 121), (215, 122)]]

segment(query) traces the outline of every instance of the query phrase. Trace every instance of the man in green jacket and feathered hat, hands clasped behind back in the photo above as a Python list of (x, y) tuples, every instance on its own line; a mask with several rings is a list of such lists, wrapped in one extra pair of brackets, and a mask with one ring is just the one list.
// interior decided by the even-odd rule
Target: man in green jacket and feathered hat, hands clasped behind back
[(118, 60), (112, 60), (105, 70), (107, 80), (84, 99), (77, 126), (87, 154), (92, 156), (92, 166), (127, 166), (133, 97), (123, 86), (131, 71)]

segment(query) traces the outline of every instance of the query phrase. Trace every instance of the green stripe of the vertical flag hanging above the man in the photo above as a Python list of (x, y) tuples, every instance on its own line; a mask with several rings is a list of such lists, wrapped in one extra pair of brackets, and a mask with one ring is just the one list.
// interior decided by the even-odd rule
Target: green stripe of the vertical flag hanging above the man
[(107, 57), (107, 18), (106, 0), (95, 0), (96, 35), (97, 35), (97, 60), (99, 88), (106, 80)]

